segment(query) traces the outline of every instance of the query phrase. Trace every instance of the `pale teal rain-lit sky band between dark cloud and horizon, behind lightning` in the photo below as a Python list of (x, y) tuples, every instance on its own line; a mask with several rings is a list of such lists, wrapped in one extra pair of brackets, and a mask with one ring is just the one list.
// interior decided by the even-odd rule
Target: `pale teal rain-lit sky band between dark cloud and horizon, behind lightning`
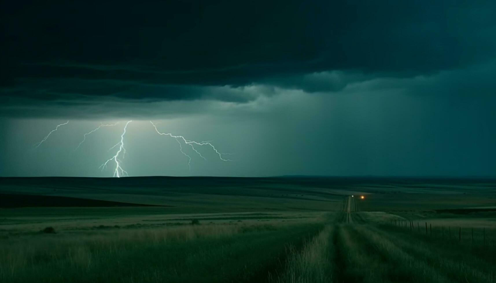
[[(299, 92), (263, 99), (250, 107), (229, 106), (177, 118), (154, 117), (161, 132), (212, 141), (233, 153), (223, 162), (208, 146), (183, 143), (188, 170), (174, 138), (160, 136), (148, 120), (133, 120), (124, 136), (121, 166), (130, 176), (214, 175), (442, 175), (494, 176), (495, 112), (489, 99), (426, 99), (391, 94), (315, 95)], [(226, 107), (226, 106), (224, 106)], [(237, 108), (236, 111), (231, 108)], [(233, 112), (236, 116), (233, 117)], [(133, 117), (135, 118), (135, 117)], [(4, 119), (2, 176), (113, 175), (126, 120), (74, 119), (35, 148), (61, 119)], [(487, 122), (481, 122), (487, 121)]]

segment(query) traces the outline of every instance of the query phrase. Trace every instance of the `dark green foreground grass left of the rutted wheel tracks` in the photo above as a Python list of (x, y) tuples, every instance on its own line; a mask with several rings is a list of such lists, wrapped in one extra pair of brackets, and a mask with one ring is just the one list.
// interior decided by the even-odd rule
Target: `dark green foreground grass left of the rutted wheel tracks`
[(288, 246), (299, 249), (321, 228), (212, 225), (6, 239), (0, 282), (263, 282), (282, 269)]

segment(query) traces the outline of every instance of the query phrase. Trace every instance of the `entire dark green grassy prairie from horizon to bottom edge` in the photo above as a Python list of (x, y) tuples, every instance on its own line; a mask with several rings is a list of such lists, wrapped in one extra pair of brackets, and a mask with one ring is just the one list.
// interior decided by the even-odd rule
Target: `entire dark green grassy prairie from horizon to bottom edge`
[(0, 194), (0, 282), (496, 282), (492, 180), (4, 178)]

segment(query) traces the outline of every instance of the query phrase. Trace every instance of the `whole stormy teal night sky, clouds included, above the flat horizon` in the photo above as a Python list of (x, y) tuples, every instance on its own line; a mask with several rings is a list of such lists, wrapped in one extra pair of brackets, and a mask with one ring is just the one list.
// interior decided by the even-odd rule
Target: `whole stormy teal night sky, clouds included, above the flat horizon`
[[(496, 1), (2, 1), (0, 176), (496, 176)], [(69, 120), (35, 147), (58, 124)], [(163, 132), (234, 153), (206, 160)], [(77, 149), (83, 134), (100, 125)]]

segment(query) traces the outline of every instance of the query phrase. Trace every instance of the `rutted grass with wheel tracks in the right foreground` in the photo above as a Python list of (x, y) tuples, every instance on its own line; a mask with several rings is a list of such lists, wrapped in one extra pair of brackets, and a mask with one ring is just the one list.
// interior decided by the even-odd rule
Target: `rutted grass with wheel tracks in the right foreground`
[(391, 226), (337, 224), (295, 252), (277, 282), (494, 283), (495, 254)]

